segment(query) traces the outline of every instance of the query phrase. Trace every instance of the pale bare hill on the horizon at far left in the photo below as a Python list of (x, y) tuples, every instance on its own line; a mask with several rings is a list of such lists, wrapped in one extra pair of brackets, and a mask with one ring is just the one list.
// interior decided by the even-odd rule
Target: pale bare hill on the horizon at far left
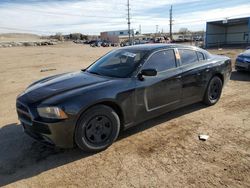
[(20, 41), (39, 41), (42, 40), (39, 35), (29, 33), (4, 33), (0, 34), (0, 42), (20, 42)]

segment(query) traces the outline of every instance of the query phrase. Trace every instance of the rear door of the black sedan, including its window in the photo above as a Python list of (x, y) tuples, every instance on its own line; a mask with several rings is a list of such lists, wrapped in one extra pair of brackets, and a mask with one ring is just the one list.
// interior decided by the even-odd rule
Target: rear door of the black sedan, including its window
[(205, 56), (192, 49), (178, 49), (182, 69), (182, 102), (193, 103), (202, 99), (206, 78)]

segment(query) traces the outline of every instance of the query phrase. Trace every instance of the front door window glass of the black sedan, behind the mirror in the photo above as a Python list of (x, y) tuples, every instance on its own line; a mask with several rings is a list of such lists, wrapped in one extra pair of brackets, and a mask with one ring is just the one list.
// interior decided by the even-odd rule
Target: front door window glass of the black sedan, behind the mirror
[(158, 72), (176, 67), (174, 50), (164, 50), (153, 54), (145, 63), (144, 69), (156, 69)]

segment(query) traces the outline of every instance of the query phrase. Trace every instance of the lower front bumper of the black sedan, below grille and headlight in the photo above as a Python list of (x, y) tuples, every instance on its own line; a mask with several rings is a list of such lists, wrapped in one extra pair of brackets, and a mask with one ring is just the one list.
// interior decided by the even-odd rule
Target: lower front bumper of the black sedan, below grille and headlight
[(73, 121), (66, 120), (58, 123), (32, 121), (32, 124), (20, 121), (24, 132), (41, 143), (60, 148), (74, 146), (75, 126)]

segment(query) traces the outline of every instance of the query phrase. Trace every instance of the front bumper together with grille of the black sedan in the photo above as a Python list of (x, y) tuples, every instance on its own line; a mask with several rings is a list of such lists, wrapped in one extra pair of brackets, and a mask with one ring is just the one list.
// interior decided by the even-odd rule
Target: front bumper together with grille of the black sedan
[(31, 110), (20, 102), (17, 102), (17, 114), (24, 132), (32, 138), (60, 148), (74, 146), (75, 121), (72, 118), (51, 123), (38, 121)]

